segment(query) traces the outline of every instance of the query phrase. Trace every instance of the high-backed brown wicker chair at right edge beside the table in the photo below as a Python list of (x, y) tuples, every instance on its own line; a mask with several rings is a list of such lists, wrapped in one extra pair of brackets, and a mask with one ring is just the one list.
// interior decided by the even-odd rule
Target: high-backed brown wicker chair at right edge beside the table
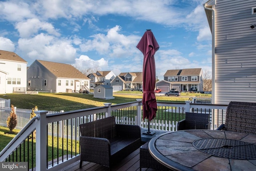
[(256, 103), (230, 101), (225, 124), (217, 130), (256, 134)]

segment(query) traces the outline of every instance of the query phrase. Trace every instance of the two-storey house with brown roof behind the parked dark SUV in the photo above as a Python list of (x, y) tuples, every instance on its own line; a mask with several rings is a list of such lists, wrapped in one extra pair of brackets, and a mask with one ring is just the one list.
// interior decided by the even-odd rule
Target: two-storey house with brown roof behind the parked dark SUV
[[(164, 80), (170, 82), (170, 88), (179, 91), (203, 91), (202, 68), (167, 70)], [(160, 87), (159, 87), (160, 86)], [(161, 84), (156, 84), (161, 89)]]

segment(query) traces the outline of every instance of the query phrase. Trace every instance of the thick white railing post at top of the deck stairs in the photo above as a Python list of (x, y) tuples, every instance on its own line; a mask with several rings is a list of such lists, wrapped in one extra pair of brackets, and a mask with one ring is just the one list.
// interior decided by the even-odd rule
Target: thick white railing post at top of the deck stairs
[(46, 171), (47, 168), (47, 159), (46, 159), (46, 113), (48, 111), (40, 110), (35, 111), (36, 115), (39, 116), (38, 123), (36, 124), (36, 170), (37, 171)]

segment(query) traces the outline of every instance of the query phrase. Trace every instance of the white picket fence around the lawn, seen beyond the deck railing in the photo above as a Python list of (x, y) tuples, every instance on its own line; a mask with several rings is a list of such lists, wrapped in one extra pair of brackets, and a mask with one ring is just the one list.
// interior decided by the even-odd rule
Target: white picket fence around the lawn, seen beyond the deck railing
[[(19, 109), (15, 108), (15, 113), (17, 115), (17, 125), (16, 129), (22, 129), (29, 121), (30, 113), (32, 112), (32, 109)], [(10, 116), (10, 107), (0, 107), (0, 125), (7, 127), (6, 120), (8, 116)], [(48, 111), (48, 113), (59, 113), (58, 111)], [(72, 135), (72, 139), (79, 139), (80, 133), (79, 133), (79, 123), (83, 122), (90, 122), (96, 119), (102, 119), (104, 116), (100, 116), (100, 118), (97, 118), (98, 116), (96, 114), (90, 115), (90, 117), (80, 117), (80, 118), (74, 118), (72, 120), (63, 120), (48, 123), (48, 135), (54, 135), (58, 137), (63, 138), (71, 138), (70, 135)], [(86, 121), (84, 121), (86, 119)], [(129, 117), (116, 117), (116, 123), (118, 124), (132, 124), (132, 125), (138, 125), (138, 117), (135, 118), (129, 118)], [(174, 121), (164, 121), (164, 120), (152, 120), (150, 121), (150, 129), (155, 130), (164, 130), (164, 131), (176, 131), (176, 125), (178, 122), (174, 123)], [(142, 128), (148, 128), (148, 119), (142, 120), (141, 119), (141, 127)], [(71, 133), (71, 131), (73, 133)]]

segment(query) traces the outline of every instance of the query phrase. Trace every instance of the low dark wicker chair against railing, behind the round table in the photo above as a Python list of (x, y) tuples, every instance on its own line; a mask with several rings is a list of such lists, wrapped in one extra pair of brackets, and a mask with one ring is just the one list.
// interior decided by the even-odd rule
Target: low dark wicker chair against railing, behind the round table
[(210, 129), (209, 114), (186, 112), (185, 119), (178, 122), (177, 131), (187, 129)]

